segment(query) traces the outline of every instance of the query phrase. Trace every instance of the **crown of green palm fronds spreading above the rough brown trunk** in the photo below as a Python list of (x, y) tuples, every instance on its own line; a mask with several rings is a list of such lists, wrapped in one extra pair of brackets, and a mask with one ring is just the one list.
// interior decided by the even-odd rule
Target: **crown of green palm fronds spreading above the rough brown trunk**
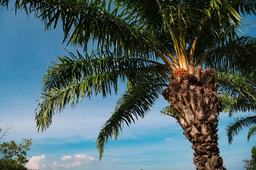
[[(8, 7), (9, 0), (0, 3)], [(199, 81), (203, 67), (217, 71), (219, 112), (255, 111), (256, 39), (238, 35), (246, 25), (242, 17), (256, 14), (253, 0), (16, 0), (18, 9), (34, 12), (46, 30), (61, 21), (63, 42), (86, 52), (68, 52), (48, 67), (36, 110), (38, 130), (49, 128), (52, 116), (67, 104), (75, 107), (93, 94), (116, 94), (118, 82), (126, 83), (99, 133), (100, 159), (105, 143), (117, 139), (124, 124), (144, 118), (174, 79), (190, 75)], [(90, 41), (96, 51), (88, 54)], [(183, 116), (173, 105), (162, 112), (179, 121)], [(229, 142), (255, 124), (256, 116), (230, 123)], [(252, 127), (248, 139), (255, 133)]]

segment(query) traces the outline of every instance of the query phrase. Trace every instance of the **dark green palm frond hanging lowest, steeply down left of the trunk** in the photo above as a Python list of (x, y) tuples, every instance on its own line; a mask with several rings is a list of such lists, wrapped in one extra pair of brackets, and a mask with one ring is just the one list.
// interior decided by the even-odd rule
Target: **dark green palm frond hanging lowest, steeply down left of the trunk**
[(135, 123), (135, 119), (144, 118), (163, 91), (163, 84), (166, 83), (164, 79), (156, 77), (154, 74), (140, 74), (137, 79), (138, 77), (140, 83), (136, 81), (129, 82), (125, 93), (116, 103), (114, 113), (99, 132), (96, 145), (100, 160), (102, 159), (105, 143), (108, 143), (112, 136), (115, 136), (116, 140), (124, 124), (129, 126), (132, 122)]

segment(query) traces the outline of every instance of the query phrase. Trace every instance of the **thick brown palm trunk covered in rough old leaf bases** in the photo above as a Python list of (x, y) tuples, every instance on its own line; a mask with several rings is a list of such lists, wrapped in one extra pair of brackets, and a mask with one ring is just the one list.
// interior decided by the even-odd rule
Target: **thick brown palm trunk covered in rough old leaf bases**
[(197, 169), (226, 170), (218, 148), (218, 83), (215, 82), (215, 71), (198, 70), (195, 75), (180, 76), (179, 81), (172, 79), (163, 96), (182, 115), (177, 121), (195, 150)]

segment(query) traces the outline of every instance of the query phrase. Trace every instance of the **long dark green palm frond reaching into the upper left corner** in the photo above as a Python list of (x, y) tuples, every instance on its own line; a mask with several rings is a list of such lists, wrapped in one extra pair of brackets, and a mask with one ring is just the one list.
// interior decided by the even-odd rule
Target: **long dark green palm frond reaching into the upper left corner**
[[(8, 4), (3, 0), (1, 5)], [(88, 42), (96, 42), (97, 49), (114, 51), (115, 57), (123, 55), (155, 57), (150, 46), (160, 43), (154, 34), (145, 30), (140, 23), (127, 23), (125, 14), (117, 14), (118, 7), (110, 10), (111, 1), (106, 0), (16, 0), (15, 9), (26, 14), (35, 13), (46, 30), (62, 23), (64, 39), (87, 51)]]

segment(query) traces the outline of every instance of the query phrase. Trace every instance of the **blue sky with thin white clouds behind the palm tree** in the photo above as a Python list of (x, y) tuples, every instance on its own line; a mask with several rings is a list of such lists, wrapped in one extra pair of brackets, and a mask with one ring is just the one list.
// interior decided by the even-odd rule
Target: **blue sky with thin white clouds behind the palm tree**
[[(255, 28), (250, 27), (248, 32), (255, 35)], [(33, 138), (28, 166), (41, 170), (195, 169), (193, 150), (190, 142), (184, 140), (183, 130), (175, 119), (160, 116), (160, 110), (168, 105), (164, 99), (156, 103), (145, 119), (125, 127), (117, 142), (109, 142), (99, 162), (95, 141), (103, 123), (111, 116), (123, 85), (117, 96), (84, 99), (75, 109), (67, 108), (53, 117), (50, 129), (37, 133), (35, 100), (49, 62), (54, 61), (56, 55), (67, 55), (62, 38), (61, 26), (45, 32), (44, 24), (33, 16), (28, 20), (25, 14), (15, 16), (14, 11), (0, 10), (0, 127), (4, 123), (14, 125), (1, 142)], [(67, 49), (75, 52), (74, 48)], [(224, 128), (230, 119), (224, 113), (220, 116), (219, 147), (225, 166), (241, 170), (242, 160), (250, 159), (256, 138), (247, 142), (247, 130), (244, 130), (228, 145)]]

